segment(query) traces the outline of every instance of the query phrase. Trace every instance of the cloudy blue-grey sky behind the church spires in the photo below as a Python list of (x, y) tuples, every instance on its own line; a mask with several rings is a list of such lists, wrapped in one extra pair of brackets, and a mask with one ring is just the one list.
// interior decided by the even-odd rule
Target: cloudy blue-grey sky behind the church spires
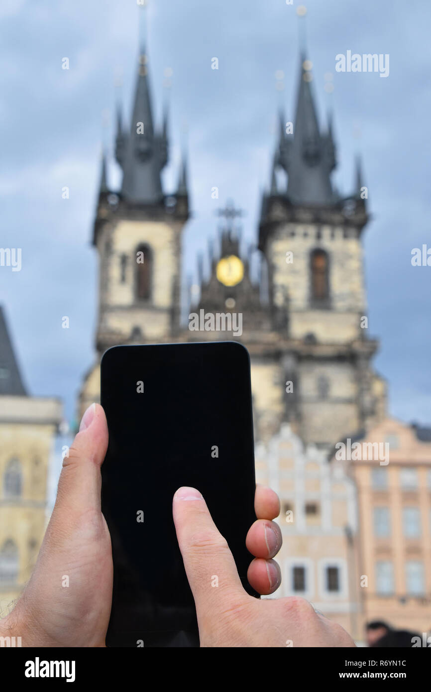
[[(181, 145), (190, 156), (194, 217), (184, 235), (184, 273), (194, 272), (196, 252), (217, 230), (214, 211), (230, 197), (246, 211), (244, 235), (255, 241), (281, 103), (293, 119), (299, 34), (293, 1), (149, 1), (158, 122), (163, 100), (170, 103), (168, 190), (176, 184)], [(413, 267), (410, 257), (412, 248), (431, 247), (431, 3), (309, 0), (306, 7), (320, 122), (332, 108), (335, 182), (346, 193), (354, 156), (363, 156), (376, 367), (389, 382), (392, 414), (430, 424), (431, 267)], [(100, 150), (104, 143), (112, 154), (116, 98), (129, 115), (139, 11), (136, 0), (2, 0), (0, 6), (1, 246), (22, 248), (20, 272), (0, 268), (0, 301), (30, 392), (61, 397), (69, 421), (94, 358), (97, 258), (90, 241)], [(347, 50), (388, 53), (389, 76), (336, 73), (335, 56)], [(212, 57), (219, 70), (211, 69)], [(167, 68), (173, 70), (169, 90)], [(284, 72), (282, 91), (275, 88), (277, 71)], [(329, 72), (331, 94), (324, 91)], [(109, 176), (118, 183), (115, 163)], [(214, 185), (219, 200), (211, 199)], [(70, 318), (70, 329), (62, 329), (62, 316)]]

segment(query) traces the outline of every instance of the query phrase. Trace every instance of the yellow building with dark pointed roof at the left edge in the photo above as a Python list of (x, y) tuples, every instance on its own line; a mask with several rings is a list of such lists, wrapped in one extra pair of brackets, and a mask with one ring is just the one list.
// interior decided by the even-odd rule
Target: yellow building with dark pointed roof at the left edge
[(30, 397), (0, 307), (0, 617), (33, 570), (46, 527), (46, 480), (58, 399)]

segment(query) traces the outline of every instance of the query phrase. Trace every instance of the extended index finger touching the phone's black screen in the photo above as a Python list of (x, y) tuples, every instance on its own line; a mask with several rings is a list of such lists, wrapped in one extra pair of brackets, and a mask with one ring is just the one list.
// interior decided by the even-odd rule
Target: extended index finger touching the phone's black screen
[(201, 493), (183, 487), (173, 502), (176, 537), (192, 589), (198, 622), (219, 617), (247, 597), (228, 543), (214, 524)]

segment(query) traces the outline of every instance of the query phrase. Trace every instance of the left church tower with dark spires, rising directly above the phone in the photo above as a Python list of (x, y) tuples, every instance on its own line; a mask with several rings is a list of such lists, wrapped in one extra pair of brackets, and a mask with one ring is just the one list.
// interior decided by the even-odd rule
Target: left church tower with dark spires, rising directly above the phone
[(97, 362), (80, 394), (80, 415), (100, 398), (100, 358), (109, 347), (175, 340), (180, 320), (181, 233), (189, 217), (185, 160), (176, 194), (162, 189), (167, 163), (167, 116), (154, 126), (148, 57), (139, 56), (129, 127), (118, 109), (119, 192), (109, 189), (102, 157), (93, 245), (99, 257)]

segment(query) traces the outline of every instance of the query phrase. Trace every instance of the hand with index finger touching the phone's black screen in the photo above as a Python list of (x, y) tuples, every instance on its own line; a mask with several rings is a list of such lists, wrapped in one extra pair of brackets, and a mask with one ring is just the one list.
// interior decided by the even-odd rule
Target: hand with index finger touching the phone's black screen
[[(316, 613), (305, 599), (261, 601), (247, 594), (228, 544), (214, 525), (199, 491), (180, 488), (173, 505), (176, 536), (194, 596), (201, 646), (355, 646), (340, 625)], [(274, 511), (271, 516), (275, 516)], [(268, 552), (264, 555), (258, 525), (259, 522), (253, 525), (255, 534), (253, 527), (248, 531), (247, 545), (250, 549), (253, 544), (256, 555), (259, 543), (259, 557), (263, 558)], [(266, 560), (253, 560), (248, 581), (268, 585), (268, 564)], [(214, 574), (218, 576), (218, 587), (211, 585)]]

